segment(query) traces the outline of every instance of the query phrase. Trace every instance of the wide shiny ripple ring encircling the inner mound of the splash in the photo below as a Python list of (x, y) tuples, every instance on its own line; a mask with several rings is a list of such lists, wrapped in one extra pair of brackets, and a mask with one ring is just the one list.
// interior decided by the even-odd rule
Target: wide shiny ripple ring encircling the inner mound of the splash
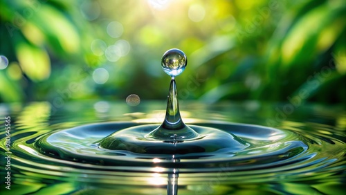
[[(219, 171), (293, 171), (313, 167), (319, 169), (333, 163), (336, 156), (327, 157), (326, 151), (340, 149), (338, 145), (322, 140), (312, 140), (294, 131), (233, 123), (199, 123), (191, 127), (213, 127), (244, 140), (243, 147), (188, 154), (141, 154), (126, 150), (101, 148), (102, 138), (126, 127), (136, 127), (138, 134), (147, 134), (158, 125), (134, 122), (108, 122), (89, 124), (72, 129), (48, 133), (35, 142), (33, 147), (21, 147), (28, 153), (36, 153), (52, 163), (74, 167), (113, 169), (118, 171), (163, 173), (179, 169), (179, 173)], [(208, 132), (210, 133), (210, 132)], [(134, 134), (134, 138), (138, 135)], [(28, 143), (28, 142), (27, 142)], [(214, 143), (222, 144), (222, 143)], [(167, 143), (174, 148), (179, 143)], [(20, 146), (19, 146), (20, 147)], [(329, 148), (329, 149), (327, 149)], [(145, 148), (143, 148), (145, 149)], [(164, 151), (164, 149), (163, 149)], [(164, 153), (164, 152), (163, 152)]]

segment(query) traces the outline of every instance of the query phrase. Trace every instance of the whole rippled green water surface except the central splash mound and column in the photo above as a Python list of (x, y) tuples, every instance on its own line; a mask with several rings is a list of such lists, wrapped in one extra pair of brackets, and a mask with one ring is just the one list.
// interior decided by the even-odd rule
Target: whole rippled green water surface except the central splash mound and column
[[(149, 156), (136, 158), (131, 165), (136, 156), (97, 147), (100, 138), (116, 131), (111, 128), (161, 123), (164, 108), (165, 102), (136, 107), (125, 102), (73, 102), (60, 109), (47, 102), (2, 104), (1, 155), (6, 152), (3, 119), (11, 117), (11, 194), (166, 194), (167, 183), (177, 184), (179, 194), (342, 194), (344, 190), (346, 113), (337, 106), (301, 106), (286, 114), (281, 105), (259, 102), (181, 102), (184, 122), (228, 128), (251, 145), (217, 160), (205, 156), (200, 163), (181, 156), (174, 163)], [(97, 126), (103, 128), (75, 128), (99, 122), (105, 122)], [(233, 122), (276, 130), (253, 131)], [(1, 167), (2, 178), (5, 171)], [(4, 190), (1, 185), (0, 191)]]

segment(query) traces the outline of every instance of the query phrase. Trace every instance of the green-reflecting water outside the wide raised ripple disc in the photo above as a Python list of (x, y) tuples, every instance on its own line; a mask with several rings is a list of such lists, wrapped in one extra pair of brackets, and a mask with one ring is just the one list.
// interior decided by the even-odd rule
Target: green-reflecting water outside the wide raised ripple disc
[[(100, 112), (95, 102), (73, 103), (51, 115), (51, 106), (36, 102), (26, 106), (1, 105), (1, 118), (12, 117), (12, 185), (13, 194), (165, 194), (167, 174), (111, 171), (103, 167), (97, 171), (91, 165), (84, 168), (78, 163), (64, 165), (64, 160), (51, 160), (49, 156), (31, 154), (37, 136), (60, 131), (81, 124), (110, 121), (159, 123), (164, 118), (165, 102), (148, 102), (133, 108), (120, 102), (109, 103), (107, 112)], [(185, 106), (184, 106), (185, 105)], [(197, 104), (182, 102), (184, 121), (198, 123), (243, 122), (266, 125), (275, 120), (279, 105), (258, 102), (237, 104)], [(155, 111), (153, 111), (155, 110)], [(78, 114), (76, 114), (78, 113)], [(219, 171), (209, 174), (195, 171), (179, 174), (179, 194), (340, 194), (345, 185), (345, 111), (340, 107), (304, 106), (276, 121), (277, 129), (303, 135), (318, 153), (320, 163), (293, 171), (258, 169), (246, 172)], [(273, 135), (274, 136), (274, 135)], [(1, 155), (4, 154), (4, 133), (1, 132)], [(253, 140), (256, 142), (256, 140)], [(258, 140), (261, 142), (261, 140)], [(275, 147), (275, 145), (273, 145)], [(267, 148), (271, 149), (271, 148)], [(42, 158), (37, 158), (41, 155)], [(24, 158), (25, 157), (25, 158)], [(37, 160), (39, 159), (39, 160)], [(313, 160), (313, 158), (311, 157)], [(34, 163), (35, 162), (35, 163)], [(88, 168), (89, 166), (89, 168)], [(230, 167), (232, 168), (232, 167)], [(280, 168), (280, 167), (279, 167)], [(159, 170), (159, 169), (158, 169)], [(1, 175), (4, 170), (1, 169)], [(1, 189), (1, 192), (3, 189)]]

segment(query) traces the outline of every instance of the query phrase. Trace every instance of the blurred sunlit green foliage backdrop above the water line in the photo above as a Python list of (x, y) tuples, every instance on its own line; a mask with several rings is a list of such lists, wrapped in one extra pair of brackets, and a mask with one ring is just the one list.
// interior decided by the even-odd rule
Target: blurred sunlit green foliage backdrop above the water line
[[(345, 104), (346, 3), (0, 0), (0, 102), (167, 97), (161, 57), (188, 56), (179, 99)], [(100, 69), (101, 68), (101, 69)], [(108, 79), (107, 79), (108, 78)]]

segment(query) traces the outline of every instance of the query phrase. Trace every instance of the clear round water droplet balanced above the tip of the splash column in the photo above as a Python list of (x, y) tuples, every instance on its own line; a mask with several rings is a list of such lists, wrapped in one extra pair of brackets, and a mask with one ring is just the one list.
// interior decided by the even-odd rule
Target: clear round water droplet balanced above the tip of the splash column
[(173, 48), (167, 50), (161, 59), (161, 66), (163, 71), (175, 77), (180, 75), (185, 70), (186, 65), (188, 64), (188, 58), (182, 50)]

